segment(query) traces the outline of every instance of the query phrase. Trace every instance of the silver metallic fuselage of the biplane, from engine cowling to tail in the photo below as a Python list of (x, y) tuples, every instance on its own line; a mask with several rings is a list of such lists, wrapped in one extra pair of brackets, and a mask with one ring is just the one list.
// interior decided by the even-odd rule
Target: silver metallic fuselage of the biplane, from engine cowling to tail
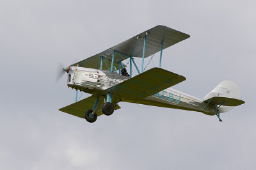
[[(86, 93), (102, 96), (106, 93), (106, 89), (123, 82), (130, 77), (119, 75), (116, 72), (110, 73), (109, 70), (97, 70), (92, 68), (83, 68), (79, 66), (71, 66), (68, 72), (67, 85), (70, 88), (78, 89)], [(159, 107), (168, 107), (173, 109), (182, 109), (188, 111), (203, 112), (204, 114), (216, 114), (216, 105), (207, 105), (202, 100), (192, 97), (186, 93), (182, 93), (172, 88), (164, 89), (158, 93), (143, 98), (142, 100), (129, 100), (118, 97), (115, 102), (131, 102), (136, 104), (155, 105)]]

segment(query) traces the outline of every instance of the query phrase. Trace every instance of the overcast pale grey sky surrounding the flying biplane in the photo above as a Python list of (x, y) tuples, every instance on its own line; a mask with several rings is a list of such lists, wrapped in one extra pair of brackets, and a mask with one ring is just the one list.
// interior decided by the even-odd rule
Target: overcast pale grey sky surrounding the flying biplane
[[(255, 5), (0, 1), (0, 169), (255, 169)], [(70, 65), (158, 24), (191, 36), (163, 51), (163, 68), (187, 78), (173, 88), (203, 98), (230, 79), (246, 104), (221, 114), (222, 123), (127, 103), (95, 123), (58, 111), (75, 97), (66, 77), (55, 84), (59, 62)]]

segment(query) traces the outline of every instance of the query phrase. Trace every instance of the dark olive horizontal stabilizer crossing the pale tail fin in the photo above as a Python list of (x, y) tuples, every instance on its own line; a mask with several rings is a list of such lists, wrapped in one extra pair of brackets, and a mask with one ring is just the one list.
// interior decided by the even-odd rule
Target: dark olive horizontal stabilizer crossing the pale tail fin
[(239, 100), (236, 98), (228, 98), (228, 97), (212, 97), (212, 98), (209, 98), (208, 100), (205, 100), (204, 102), (209, 102), (209, 101), (210, 101), (210, 104), (226, 105), (226, 106), (237, 106), (237, 105), (244, 104), (243, 100)]

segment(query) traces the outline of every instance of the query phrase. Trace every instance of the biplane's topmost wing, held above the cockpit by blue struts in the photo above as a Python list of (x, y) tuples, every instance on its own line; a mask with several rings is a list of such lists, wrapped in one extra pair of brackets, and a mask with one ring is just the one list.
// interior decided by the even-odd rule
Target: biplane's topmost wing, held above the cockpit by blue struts
[[(103, 70), (106, 70), (109, 65), (111, 65), (113, 51), (115, 51), (115, 61), (114, 66), (118, 68), (118, 63), (127, 59), (129, 57), (137, 57), (142, 58), (143, 52), (143, 42), (144, 36), (147, 33), (147, 41), (145, 48), (145, 58), (159, 52), (161, 50), (161, 42), (163, 42), (163, 49), (174, 45), (175, 43), (181, 42), (189, 38), (189, 35), (172, 29), (166, 26), (156, 26), (152, 29), (148, 29), (139, 35), (133, 36), (129, 40), (125, 42), (119, 43), (114, 47), (111, 47), (95, 56), (84, 59), (83, 61), (79, 61), (78, 63), (74, 63), (71, 66), (79, 66), (87, 67), (87, 68), (99, 68), (100, 66), (100, 57), (103, 56)], [(108, 62), (108, 66), (105, 62)]]

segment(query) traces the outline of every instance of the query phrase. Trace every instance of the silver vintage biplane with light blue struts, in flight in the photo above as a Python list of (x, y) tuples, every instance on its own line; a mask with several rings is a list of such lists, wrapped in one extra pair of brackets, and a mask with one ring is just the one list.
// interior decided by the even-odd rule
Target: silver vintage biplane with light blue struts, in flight
[[(161, 68), (163, 50), (187, 38), (189, 35), (170, 27), (156, 26), (95, 56), (66, 66), (63, 72), (67, 72), (68, 88), (76, 89), (76, 102), (60, 111), (93, 123), (100, 115), (109, 116), (120, 109), (119, 102), (130, 102), (202, 112), (216, 115), (222, 121), (220, 113), (244, 104), (235, 82), (221, 82), (200, 100), (170, 88), (186, 78)], [(160, 52), (159, 67), (145, 70), (144, 59), (156, 52)], [(141, 58), (141, 65), (134, 61), (138, 58)], [(135, 69), (138, 74), (132, 76)], [(92, 96), (77, 101), (77, 91)]]

